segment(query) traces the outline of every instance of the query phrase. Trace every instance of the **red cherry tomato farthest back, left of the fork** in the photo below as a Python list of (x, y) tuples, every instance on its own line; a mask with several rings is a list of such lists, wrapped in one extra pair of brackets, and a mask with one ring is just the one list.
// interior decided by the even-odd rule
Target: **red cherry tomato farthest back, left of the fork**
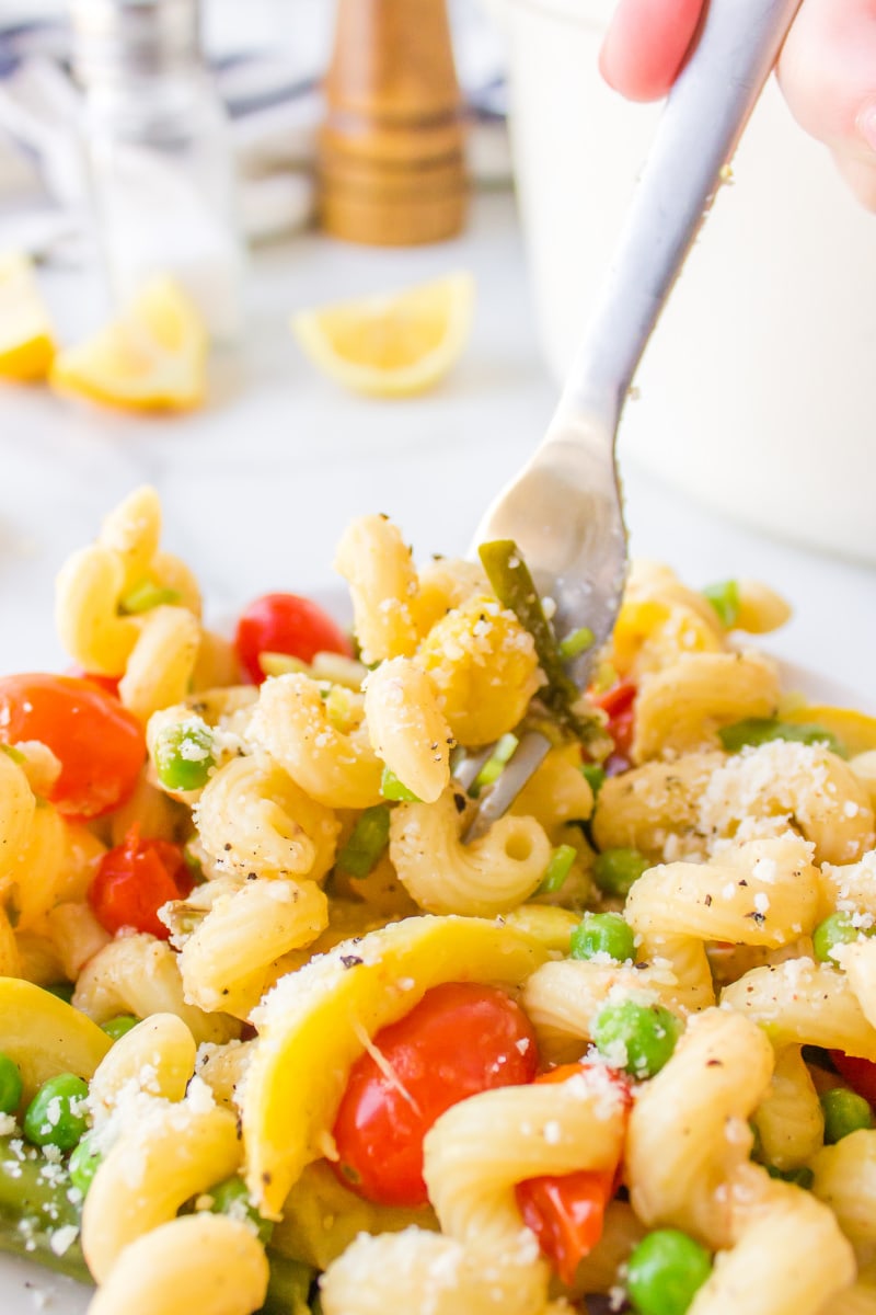
[(235, 646), (255, 685), (265, 679), (259, 654), (288, 654), (309, 663), (318, 652), (345, 658), (353, 652), (340, 626), (315, 602), (296, 593), (265, 593), (251, 602), (238, 621)]

